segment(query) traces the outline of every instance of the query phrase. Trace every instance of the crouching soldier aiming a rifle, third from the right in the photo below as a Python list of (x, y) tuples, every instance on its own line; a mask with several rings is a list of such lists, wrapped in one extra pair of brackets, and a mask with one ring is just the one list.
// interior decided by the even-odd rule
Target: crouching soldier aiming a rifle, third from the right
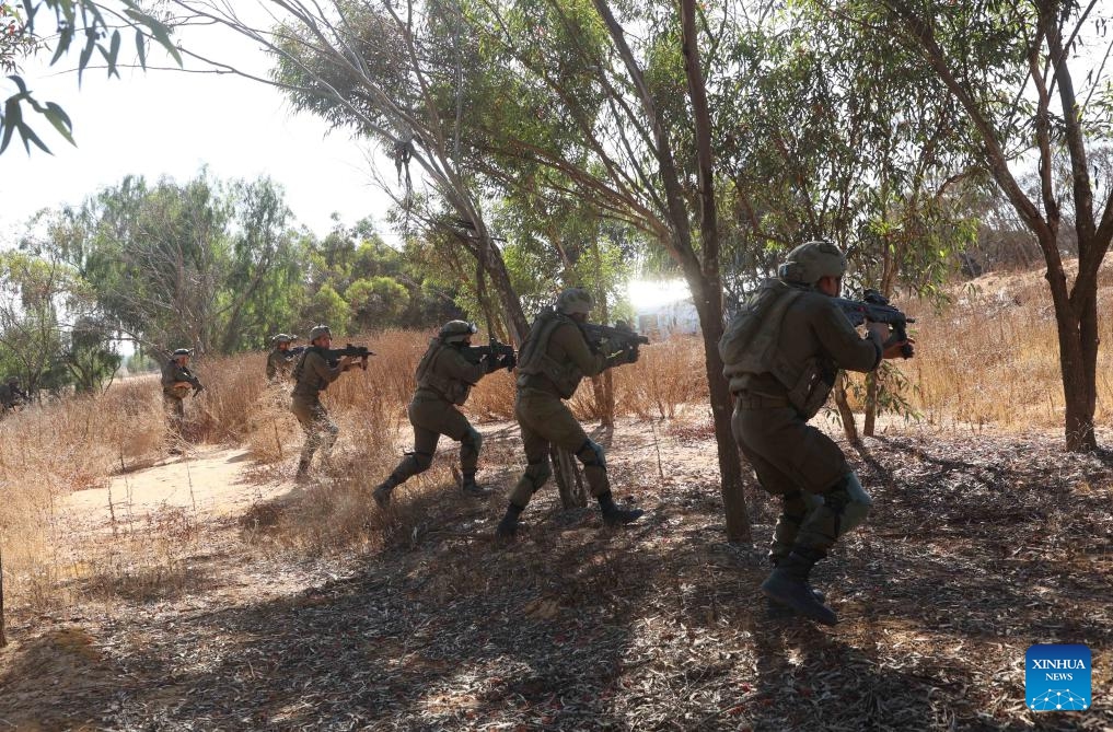
[(395, 486), (429, 469), (441, 435), (460, 443), (460, 471), (463, 475), (460, 487), (464, 494), (477, 498), (491, 494), (475, 483), (475, 466), (483, 437), (456, 406), (467, 400), (472, 387), (486, 374), (500, 366), (512, 365), (513, 356), (500, 360), (486, 355), (477, 364), (471, 363), (462, 352), (472, 345), (474, 334), (475, 324), (449, 320), (430, 340), (429, 349), (417, 364), (417, 389), (407, 409), (414, 427), (414, 452), (406, 453), (394, 472), (372, 494), (381, 508), (390, 504), (391, 491)]

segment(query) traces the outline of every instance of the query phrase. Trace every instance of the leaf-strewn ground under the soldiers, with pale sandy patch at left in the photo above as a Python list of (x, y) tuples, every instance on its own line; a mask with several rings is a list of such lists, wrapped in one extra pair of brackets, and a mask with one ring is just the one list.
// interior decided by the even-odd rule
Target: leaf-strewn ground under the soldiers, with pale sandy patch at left
[[(1113, 730), (1109, 455), (897, 426), (844, 445), (875, 511), (817, 566), (828, 629), (767, 612), (777, 506), (755, 485), (754, 546), (726, 543), (709, 424), (598, 431), (647, 516), (609, 531), (550, 485), (505, 548), (490, 533), (520, 442), (485, 432), (495, 496), (403, 487), (386, 545), (344, 556), (260, 551), (242, 518), (322, 486), (260, 483), (235, 452), (120, 476), (111, 502), (130, 492), (140, 523), (185, 511), (197, 551), (161, 594), (14, 619), (0, 728)], [(75, 536), (111, 535), (108, 504), (75, 494)], [(1086, 712), (1025, 709), (1025, 650), (1055, 642), (1093, 652)]]

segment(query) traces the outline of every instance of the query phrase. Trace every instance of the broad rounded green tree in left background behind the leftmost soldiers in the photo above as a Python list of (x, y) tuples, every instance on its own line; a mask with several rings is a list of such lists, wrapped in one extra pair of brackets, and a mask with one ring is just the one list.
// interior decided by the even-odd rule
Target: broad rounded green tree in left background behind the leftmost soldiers
[(47, 246), (112, 327), (154, 349), (259, 348), (293, 319), (302, 280), (282, 194), (267, 179), (184, 185), (127, 177), (46, 221)]

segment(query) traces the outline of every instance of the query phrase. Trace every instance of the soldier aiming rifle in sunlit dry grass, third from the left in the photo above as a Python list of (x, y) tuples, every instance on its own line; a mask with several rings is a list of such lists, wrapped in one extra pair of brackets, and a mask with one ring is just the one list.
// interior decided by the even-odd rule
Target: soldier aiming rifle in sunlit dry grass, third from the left
[(290, 412), (305, 431), (305, 446), (297, 462), (296, 479), (301, 483), (309, 476), (309, 463), (319, 447), (327, 456), (336, 442), (339, 428), (328, 418), (328, 412), (321, 404), (321, 393), (354, 365), (351, 356), (342, 356), (339, 362), (329, 360), (324, 352), (333, 345), (333, 334), (327, 325), (318, 325), (309, 330), (309, 347), (305, 349), (294, 366), (294, 386)]

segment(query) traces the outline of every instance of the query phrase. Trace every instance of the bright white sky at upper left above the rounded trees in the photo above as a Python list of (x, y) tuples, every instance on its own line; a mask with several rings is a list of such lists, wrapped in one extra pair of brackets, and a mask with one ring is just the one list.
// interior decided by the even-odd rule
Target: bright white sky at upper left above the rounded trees
[[(260, 49), (228, 31), (186, 29), (179, 39), (240, 68), (269, 68)], [(174, 66), (165, 57), (152, 51), (148, 62)], [(372, 182), (367, 144), (294, 113), (278, 90), (234, 76), (131, 69), (121, 69), (120, 79), (87, 70), (79, 87), (76, 55), (55, 67), (47, 66), (49, 58), (27, 62), (23, 79), (39, 101), (66, 110), (77, 147), (41, 119), (33, 128), (53, 155), (32, 146), (28, 156), (18, 137), (0, 155), (0, 246), (10, 246), (40, 208), (79, 204), (127, 175), (185, 182), (203, 166), (225, 180), (269, 176), (285, 189), (297, 222), (321, 236), (332, 230), (334, 212), (345, 224), (372, 216), (386, 234), (388, 200)], [(134, 46), (125, 42), (121, 58), (132, 62)], [(186, 68), (198, 66), (186, 61)], [(0, 99), (13, 88), (0, 81)], [(393, 179), (393, 165), (381, 156), (378, 165)]]

